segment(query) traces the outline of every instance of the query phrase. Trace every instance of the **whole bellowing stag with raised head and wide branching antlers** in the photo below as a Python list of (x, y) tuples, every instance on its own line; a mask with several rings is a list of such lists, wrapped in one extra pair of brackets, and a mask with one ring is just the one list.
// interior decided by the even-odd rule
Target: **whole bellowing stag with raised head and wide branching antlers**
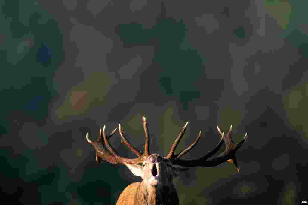
[[(247, 133), (241, 142), (234, 143), (231, 138), (232, 125), (226, 135), (224, 135), (224, 133), (221, 132), (217, 126), (217, 130), (221, 135), (221, 139), (217, 146), (209, 153), (195, 160), (184, 160), (181, 158), (198, 143), (201, 137), (201, 131), (199, 132), (199, 135), (193, 144), (191, 144), (188, 148), (184, 149), (179, 154), (174, 154), (177, 145), (184, 135), (188, 122), (184, 125), (183, 129), (180, 131), (178, 137), (174, 141), (169, 154), (164, 158), (159, 156), (159, 154), (150, 154), (150, 136), (145, 117), (142, 117), (142, 125), (145, 133), (144, 153), (138, 151), (125, 138), (121, 130), (121, 124), (119, 124), (119, 128), (115, 128), (108, 136), (106, 135), (106, 126), (103, 127), (103, 144), (101, 142), (101, 129), (99, 131), (99, 137), (96, 141), (91, 141), (89, 139), (88, 133), (86, 136), (87, 141), (93, 145), (96, 151), (97, 163), (109, 162), (111, 164), (123, 164), (128, 167), (134, 175), (140, 176), (143, 179), (142, 182), (135, 182), (126, 187), (120, 194), (116, 205), (178, 205), (179, 199), (172, 180), (178, 177), (182, 171), (187, 170), (189, 167), (214, 167), (218, 164), (229, 162), (233, 163), (237, 169), (237, 172), (240, 173), (240, 168), (237, 164), (235, 152), (246, 141)], [(112, 148), (108, 140), (117, 129), (124, 144), (126, 144), (126, 146), (137, 155), (137, 158), (124, 158), (120, 156), (114, 150), (114, 148)], [(225, 142), (225, 151), (216, 158), (209, 159), (221, 148), (223, 142)]]

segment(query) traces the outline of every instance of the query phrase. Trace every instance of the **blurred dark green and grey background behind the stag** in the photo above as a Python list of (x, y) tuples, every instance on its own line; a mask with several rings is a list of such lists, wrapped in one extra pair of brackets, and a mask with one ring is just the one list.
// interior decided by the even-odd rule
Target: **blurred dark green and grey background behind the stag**
[[(210, 151), (248, 132), (233, 164), (174, 180), (180, 204), (297, 204), (307, 196), (307, 1), (0, 1), (2, 200), (115, 204), (140, 180), (96, 164), (94, 140), (121, 123), (142, 150)], [(120, 143), (112, 145), (135, 157)], [(220, 151), (222, 152), (222, 150)], [(307, 199), (307, 197), (306, 197)]]

